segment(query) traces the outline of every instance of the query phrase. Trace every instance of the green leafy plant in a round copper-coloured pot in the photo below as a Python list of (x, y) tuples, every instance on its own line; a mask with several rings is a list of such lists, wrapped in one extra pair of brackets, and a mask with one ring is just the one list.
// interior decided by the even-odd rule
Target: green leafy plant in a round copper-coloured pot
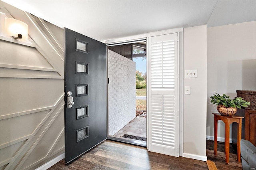
[(219, 95), (215, 93), (210, 98), (212, 99), (211, 103), (216, 104), (218, 112), (224, 116), (232, 116), (236, 113), (236, 108), (241, 109), (241, 107), (250, 105), (250, 102), (245, 101), (242, 97), (230, 99), (230, 96), (226, 94)]

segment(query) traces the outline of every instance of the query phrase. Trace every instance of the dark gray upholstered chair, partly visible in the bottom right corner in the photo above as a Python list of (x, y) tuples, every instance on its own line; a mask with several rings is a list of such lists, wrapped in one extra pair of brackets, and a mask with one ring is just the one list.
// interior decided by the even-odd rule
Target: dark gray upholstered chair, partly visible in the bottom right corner
[(240, 140), (243, 170), (256, 170), (256, 146), (248, 140)]

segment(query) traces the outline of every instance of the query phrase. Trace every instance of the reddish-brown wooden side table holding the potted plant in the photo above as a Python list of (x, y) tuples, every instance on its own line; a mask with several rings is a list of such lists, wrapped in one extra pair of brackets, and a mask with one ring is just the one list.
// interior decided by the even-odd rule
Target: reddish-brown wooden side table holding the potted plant
[(237, 128), (237, 161), (241, 161), (240, 155), (240, 140), (242, 134), (242, 118), (241, 116), (222, 116), (220, 113), (214, 114), (214, 155), (217, 155), (217, 136), (218, 136), (218, 120), (222, 120), (225, 123), (225, 154), (226, 154), (226, 163), (229, 162), (229, 129), (230, 124), (236, 122), (238, 124)]

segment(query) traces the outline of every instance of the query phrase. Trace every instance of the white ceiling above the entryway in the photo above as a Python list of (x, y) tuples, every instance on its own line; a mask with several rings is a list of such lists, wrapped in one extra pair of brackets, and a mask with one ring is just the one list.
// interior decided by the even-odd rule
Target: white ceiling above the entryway
[(256, 20), (256, 0), (2, 0), (98, 41)]

